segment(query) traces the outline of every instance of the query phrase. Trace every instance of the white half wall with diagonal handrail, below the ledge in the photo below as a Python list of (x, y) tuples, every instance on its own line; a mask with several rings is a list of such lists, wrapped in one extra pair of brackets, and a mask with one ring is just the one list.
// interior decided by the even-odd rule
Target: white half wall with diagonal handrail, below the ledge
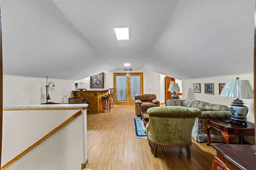
[[(6, 164), (77, 111), (79, 110), (3, 111), (1, 165)], [(6, 169), (81, 169), (81, 164), (87, 160), (87, 119), (84, 110), (82, 113)]]

